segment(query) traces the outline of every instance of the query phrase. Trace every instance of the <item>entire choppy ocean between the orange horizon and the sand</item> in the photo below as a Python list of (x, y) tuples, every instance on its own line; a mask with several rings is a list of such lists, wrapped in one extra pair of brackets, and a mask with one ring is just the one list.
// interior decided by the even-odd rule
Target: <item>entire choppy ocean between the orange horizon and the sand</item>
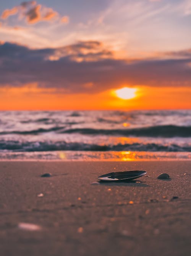
[(2, 111), (0, 159), (191, 159), (191, 110)]

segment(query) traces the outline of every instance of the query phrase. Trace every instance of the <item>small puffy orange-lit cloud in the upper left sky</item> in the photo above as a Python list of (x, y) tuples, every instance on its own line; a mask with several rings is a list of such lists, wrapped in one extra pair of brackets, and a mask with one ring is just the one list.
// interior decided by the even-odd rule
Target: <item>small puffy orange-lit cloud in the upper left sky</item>
[(68, 16), (61, 17), (58, 12), (52, 8), (47, 8), (44, 5), (37, 4), (36, 1), (22, 2), (19, 6), (13, 7), (10, 10), (5, 10), (2, 13), (1, 18), (7, 19), (10, 15), (18, 13), (19, 17), (26, 19), (28, 24), (35, 24), (40, 21), (50, 21), (54, 18), (60, 20), (63, 23), (69, 22)]

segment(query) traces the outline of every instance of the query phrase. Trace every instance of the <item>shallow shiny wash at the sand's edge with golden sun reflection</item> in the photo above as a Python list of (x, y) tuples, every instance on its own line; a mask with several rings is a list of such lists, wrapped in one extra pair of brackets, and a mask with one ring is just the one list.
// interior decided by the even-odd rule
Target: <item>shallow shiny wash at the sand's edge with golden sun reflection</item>
[(34, 151), (0, 152), (1, 160), (15, 161), (171, 161), (191, 160), (191, 152), (165, 151)]

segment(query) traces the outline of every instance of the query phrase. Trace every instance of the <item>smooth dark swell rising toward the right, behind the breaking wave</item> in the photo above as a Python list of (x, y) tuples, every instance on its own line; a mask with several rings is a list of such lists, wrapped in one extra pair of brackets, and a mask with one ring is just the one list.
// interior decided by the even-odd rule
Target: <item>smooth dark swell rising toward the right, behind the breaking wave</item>
[(152, 126), (134, 129), (67, 129), (61, 133), (80, 133), (88, 135), (134, 135), (146, 137), (191, 137), (191, 126)]

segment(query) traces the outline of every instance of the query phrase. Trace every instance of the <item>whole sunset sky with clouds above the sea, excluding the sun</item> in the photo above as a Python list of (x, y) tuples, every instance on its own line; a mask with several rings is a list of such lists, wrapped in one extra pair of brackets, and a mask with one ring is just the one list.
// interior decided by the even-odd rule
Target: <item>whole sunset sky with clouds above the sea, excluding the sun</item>
[(191, 0), (3, 1), (0, 110), (191, 109), (190, 24)]

